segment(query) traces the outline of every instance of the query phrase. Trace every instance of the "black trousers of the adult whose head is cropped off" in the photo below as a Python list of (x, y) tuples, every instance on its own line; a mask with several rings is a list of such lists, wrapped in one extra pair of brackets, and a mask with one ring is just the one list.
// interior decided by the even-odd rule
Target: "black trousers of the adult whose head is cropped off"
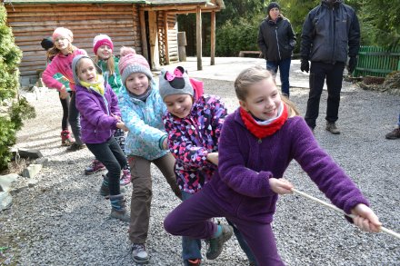
[(342, 91), (343, 71), (345, 63), (325, 64), (311, 62), (310, 68), (310, 93), (308, 94), (305, 122), (309, 127), (315, 128), (315, 121), (318, 118), (319, 102), (326, 78), (328, 99), (326, 103), (325, 120), (335, 123), (338, 119), (340, 92)]

